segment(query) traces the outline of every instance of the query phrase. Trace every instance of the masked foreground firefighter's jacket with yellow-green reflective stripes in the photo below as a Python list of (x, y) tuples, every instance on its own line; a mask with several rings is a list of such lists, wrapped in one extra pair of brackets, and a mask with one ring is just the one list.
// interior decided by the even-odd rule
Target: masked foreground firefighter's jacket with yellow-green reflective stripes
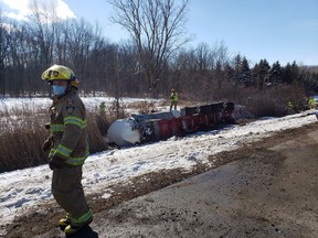
[(54, 154), (65, 159), (71, 165), (80, 165), (88, 156), (86, 112), (75, 89), (61, 98), (53, 98), (50, 107), (51, 137), (54, 145), (49, 158)]

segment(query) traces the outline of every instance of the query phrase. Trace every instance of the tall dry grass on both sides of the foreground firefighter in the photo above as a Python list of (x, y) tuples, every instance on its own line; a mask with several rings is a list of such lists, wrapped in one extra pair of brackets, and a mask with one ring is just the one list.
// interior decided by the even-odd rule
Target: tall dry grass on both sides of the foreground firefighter
[[(42, 151), (42, 143), (50, 131), (44, 128), (49, 115), (46, 111), (13, 109), (0, 115), (0, 173), (25, 169), (47, 163), (47, 154)], [(89, 152), (107, 150), (102, 132), (97, 126), (98, 115), (87, 113)], [(108, 122), (103, 120), (108, 128)]]

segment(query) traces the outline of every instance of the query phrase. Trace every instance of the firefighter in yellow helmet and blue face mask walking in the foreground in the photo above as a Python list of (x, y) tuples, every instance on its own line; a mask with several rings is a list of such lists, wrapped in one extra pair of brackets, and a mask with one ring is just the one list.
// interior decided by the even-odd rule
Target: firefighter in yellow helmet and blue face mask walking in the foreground
[(82, 186), (82, 166), (88, 156), (85, 107), (77, 95), (78, 80), (68, 67), (53, 65), (43, 72), (42, 79), (53, 90), (51, 134), (42, 149), (50, 151), (52, 194), (66, 212), (60, 227), (70, 235), (93, 220)]

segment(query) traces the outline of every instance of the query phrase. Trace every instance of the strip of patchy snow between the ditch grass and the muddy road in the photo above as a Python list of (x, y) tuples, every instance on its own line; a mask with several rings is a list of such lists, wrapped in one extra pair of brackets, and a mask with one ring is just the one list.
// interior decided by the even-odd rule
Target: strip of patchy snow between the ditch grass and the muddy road
[[(184, 138), (173, 137), (167, 141), (92, 154), (84, 165), (84, 190), (86, 194), (104, 192), (103, 197), (109, 197), (112, 191), (107, 187), (112, 184), (129, 183), (132, 177), (160, 170), (191, 170), (197, 163), (211, 163), (209, 155), (237, 149), (277, 131), (312, 123), (317, 121), (312, 112), (267, 118), (245, 126), (234, 125)], [(53, 199), (51, 177), (52, 171), (47, 165), (0, 174), (0, 226), (43, 201)]]

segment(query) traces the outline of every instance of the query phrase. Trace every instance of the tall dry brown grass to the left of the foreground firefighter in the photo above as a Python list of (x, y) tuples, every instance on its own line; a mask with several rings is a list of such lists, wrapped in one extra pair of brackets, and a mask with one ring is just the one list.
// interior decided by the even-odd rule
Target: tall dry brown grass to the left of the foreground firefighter
[(46, 162), (41, 145), (47, 132), (41, 115), (18, 109), (1, 113), (0, 172)]

